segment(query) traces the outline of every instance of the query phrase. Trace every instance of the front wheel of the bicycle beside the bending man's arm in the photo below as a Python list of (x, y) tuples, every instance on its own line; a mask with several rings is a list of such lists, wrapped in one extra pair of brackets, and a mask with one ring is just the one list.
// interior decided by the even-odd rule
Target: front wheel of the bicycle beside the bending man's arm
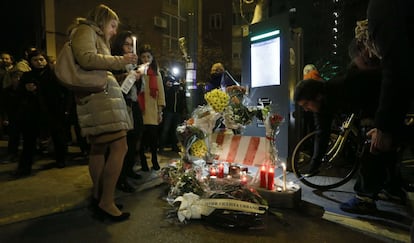
[[(303, 174), (309, 168), (313, 155), (316, 133), (315, 131), (306, 135), (293, 150), (291, 160), (293, 172), (303, 184), (315, 189), (328, 190), (339, 187), (348, 182), (358, 170), (357, 147), (348, 137), (344, 150), (335, 159), (322, 162), (317, 175), (304, 177)], [(331, 148), (337, 137), (338, 134), (331, 133), (328, 148)]]

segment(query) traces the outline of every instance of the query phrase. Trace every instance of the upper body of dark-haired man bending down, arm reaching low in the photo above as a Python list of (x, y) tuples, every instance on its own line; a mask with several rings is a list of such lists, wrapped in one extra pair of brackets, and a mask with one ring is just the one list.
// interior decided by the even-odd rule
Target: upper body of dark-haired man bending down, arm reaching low
[(318, 173), (336, 115), (354, 112), (361, 118), (374, 117), (380, 78), (378, 70), (360, 71), (353, 66), (343, 76), (329, 81), (307, 79), (297, 84), (295, 102), (313, 112), (319, 131), (308, 176)]

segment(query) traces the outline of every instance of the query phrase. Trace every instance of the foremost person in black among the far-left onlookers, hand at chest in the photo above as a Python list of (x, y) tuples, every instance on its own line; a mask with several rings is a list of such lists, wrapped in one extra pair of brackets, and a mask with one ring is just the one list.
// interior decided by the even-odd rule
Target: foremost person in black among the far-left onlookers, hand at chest
[(48, 131), (52, 137), (56, 165), (66, 165), (67, 145), (65, 120), (68, 96), (50, 67), (45, 53), (35, 50), (28, 55), (31, 71), (24, 73), (19, 84), (21, 101), (18, 120), (23, 135), (23, 151), (16, 177), (31, 174), (36, 151), (36, 140), (41, 131)]

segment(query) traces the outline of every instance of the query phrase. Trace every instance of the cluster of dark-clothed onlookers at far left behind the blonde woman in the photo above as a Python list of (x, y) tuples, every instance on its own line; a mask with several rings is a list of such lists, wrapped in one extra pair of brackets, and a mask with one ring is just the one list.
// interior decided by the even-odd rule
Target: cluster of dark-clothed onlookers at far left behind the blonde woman
[(25, 54), (25, 59), (18, 63), (11, 54), (1, 54), (1, 131), (8, 137), (5, 160), (18, 162), (16, 177), (31, 174), (36, 151), (49, 137), (53, 141), (56, 166), (65, 167), (64, 135), (73, 97), (57, 81), (43, 51), (29, 48)]

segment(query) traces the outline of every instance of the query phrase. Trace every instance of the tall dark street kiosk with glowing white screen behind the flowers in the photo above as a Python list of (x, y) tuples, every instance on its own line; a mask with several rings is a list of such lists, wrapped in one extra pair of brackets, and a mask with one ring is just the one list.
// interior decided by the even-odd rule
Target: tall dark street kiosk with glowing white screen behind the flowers
[[(289, 160), (304, 135), (302, 114), (293, 101), (295, 85), (302, 79), (302, 31), (290, 26), (289, 16), (286, 11), (250, 25), (242, 42), (242, 85), (249, 88), (250, 102), (270, 105), (284, 117), (276, 137), (282, 161)], [(255, 119), (243, 135), (264, 137), (263, 122)]]

